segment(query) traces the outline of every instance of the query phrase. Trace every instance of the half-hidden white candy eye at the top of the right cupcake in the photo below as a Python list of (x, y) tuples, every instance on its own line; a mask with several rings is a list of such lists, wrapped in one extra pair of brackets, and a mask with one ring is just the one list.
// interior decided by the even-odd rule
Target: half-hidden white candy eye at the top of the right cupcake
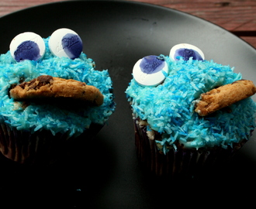
[(205, 56), (198, 47), (193, 46), (189, 43), (179, 43), (171, 48), (170, 56), (172, 60), (180, 60), (182, 57), (183, 60), (189, 60), (189, 57), (192, 57), (192, 60), (204, 60)]

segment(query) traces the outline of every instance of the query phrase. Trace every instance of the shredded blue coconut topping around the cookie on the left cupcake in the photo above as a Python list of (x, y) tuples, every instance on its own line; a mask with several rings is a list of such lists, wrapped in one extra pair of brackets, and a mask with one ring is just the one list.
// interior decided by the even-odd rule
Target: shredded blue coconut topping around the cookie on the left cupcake
[[(108, 70), (95, 70), (95, 63), (85, 53), (74, 60), (54, 57), (50, 53), (48, 40), (49, 37), (44, 39), (47, 51), (39, 61), (24, 60), (17, 63), (9, 51), (0, 56), (0, 122), (32, 133), (46, 129), (53, 135), (61, 132), (69, 136), (80, 135), (92, 123), (104, 125), (115, 110)], [(67, 110), (34, 103), (24, 109), (19, 102), (9, 98), (12, 84), (19, 84), (22, 79), (30, 81), (40, 75), (74, 79), (93, 85), (104, 95), (103, 105)]]

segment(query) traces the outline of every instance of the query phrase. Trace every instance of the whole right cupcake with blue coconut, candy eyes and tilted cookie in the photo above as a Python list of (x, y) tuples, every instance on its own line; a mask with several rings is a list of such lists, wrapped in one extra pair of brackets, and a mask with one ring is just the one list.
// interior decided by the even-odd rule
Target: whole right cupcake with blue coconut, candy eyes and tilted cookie
[(234, 68), (204, 60), (189, 44), (138, 60), (126, 97), (140, 161), (171, 178), (227, 162), (254, 130), (255, 92)]

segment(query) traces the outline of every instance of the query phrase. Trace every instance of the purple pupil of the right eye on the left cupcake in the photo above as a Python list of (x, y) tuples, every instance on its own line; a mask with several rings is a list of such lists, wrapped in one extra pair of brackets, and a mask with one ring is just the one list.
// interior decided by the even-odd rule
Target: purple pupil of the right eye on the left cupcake
[(62, 48), (67, 56), (75, 59), (80, 56), (83, 50), (81, 39), (78, 35), (67, 33), (62, 39)]

